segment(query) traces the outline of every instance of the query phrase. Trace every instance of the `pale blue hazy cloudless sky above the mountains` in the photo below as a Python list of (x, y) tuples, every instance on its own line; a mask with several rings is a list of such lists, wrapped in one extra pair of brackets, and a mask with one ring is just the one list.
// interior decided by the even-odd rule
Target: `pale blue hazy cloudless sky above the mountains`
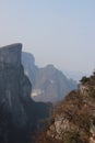
[(95, 0), (0, 0), (0, 46), (12, 43), (40, 67), (92, 73)]

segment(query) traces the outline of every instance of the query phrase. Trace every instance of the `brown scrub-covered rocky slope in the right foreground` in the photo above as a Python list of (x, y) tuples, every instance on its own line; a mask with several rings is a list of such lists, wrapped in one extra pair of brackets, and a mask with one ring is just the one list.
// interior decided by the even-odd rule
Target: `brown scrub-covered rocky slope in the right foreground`
[(56, 107), (34, 143), (95, 143), (95, 73)]

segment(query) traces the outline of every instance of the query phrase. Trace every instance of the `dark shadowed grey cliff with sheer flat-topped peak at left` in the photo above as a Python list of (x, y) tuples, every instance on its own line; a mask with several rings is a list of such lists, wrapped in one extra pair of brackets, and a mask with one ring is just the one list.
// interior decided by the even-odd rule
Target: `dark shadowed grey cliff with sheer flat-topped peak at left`
[(22, 44), (0, 48), (0, 142), (25, 142), (47, 118), (48, 106), (31, 99), (32, 85), (21, 63)]

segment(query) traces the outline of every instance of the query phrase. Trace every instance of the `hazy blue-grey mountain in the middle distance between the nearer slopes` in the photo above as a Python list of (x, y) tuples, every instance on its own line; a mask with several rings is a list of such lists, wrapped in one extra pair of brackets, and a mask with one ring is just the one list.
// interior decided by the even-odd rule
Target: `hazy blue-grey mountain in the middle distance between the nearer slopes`
[(32, 98), (35, 101), (56, 102), (76, 88), (76, 82), (68, 79), (54, 65), (39, 68), (32, 54), (23, 53), (22, 63), (26, 75), (33, 84)]

